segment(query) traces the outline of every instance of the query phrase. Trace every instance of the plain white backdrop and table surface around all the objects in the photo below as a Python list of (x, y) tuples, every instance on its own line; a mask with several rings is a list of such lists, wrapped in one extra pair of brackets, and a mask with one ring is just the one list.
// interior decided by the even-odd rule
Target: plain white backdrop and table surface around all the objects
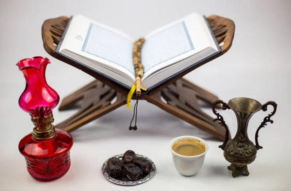
[[(290, 191), (290, 8), (290, 1), (279, 0), (0, 0), (0, 191)], [(83, 14), (138, 38), (191, 12), (231, 18), (236, 31), (233, 45), (225, 55), (185, 78), (224, 101), (245, 96), (261, 103), (273, 100), (278, 104), (274, 124), (268, 124), (259, 133), (259, 143), (264, 148), (249, 165), (250, 175), (233, 178), (223, 151), (218, 148), (221, 141), (141, 101), (137, 131), (128, 130), (132, 110), (121, 107), (72, 132), (72, 163), (64, 177), (49, 183), (34, 180), (18, 152), (18, 142), (32, 131), (32, 123), (18, 106), (25, 81), (15, 64), (33, 56), (51, 59), (47, 80), (61, 98), (93, 80), (46, 53), (41, 39), (43, 21)], [(74, 112), (55, 109), (54, 124)], [(206, 112), (211, 113), (210, 109)], [(237, 128), (234, 113), (222, 113), (234, 136)], [(254, 141), (255, 131), (266, 114), (260, 111), (252, 117), (248, 129), (251, 140)], [(181, 135), (201, 137), (210, 145), (204, 165), (192, 177), (178, 174), (168, 148), (170, 140)], [(122, 187), (103, 177), (103, 162), (128, 149), (155, 162), (157, 173), (153, 179), (139, 186)]]

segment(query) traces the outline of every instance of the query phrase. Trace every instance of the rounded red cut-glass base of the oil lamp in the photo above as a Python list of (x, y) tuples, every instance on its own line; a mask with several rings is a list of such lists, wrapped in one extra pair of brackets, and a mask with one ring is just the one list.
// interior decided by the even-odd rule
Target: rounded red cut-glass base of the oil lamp
[(73, 138), (64, 130), (55, 130), (57, 134), (46, 140), (34, 139), (31, 132), (18, 145), (29, 174), (39, 181), (58, 179), (66, 174), (71, 165)]

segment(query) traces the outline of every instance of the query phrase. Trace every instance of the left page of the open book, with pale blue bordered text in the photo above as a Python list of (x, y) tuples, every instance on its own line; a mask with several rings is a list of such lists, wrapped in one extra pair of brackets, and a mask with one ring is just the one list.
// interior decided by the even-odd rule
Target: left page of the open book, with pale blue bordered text
[(67, 49), (135, 79), (132, 48), (133, 40), (127, 35), (84, 16), (74, 16), (59, 51)]

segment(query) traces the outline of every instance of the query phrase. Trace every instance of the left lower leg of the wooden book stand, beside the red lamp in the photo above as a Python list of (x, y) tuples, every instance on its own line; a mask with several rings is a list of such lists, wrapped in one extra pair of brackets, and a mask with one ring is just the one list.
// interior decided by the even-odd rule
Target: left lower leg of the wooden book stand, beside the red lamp
[[(116, 101), (111, 103), (115, 97)], [(78, 101), (81, 101), (81, 103), (78, 103)], [(70, 109), (72, 106), (77, 106), (80, 110), (58, 124), (56, 128), (61, 128), (68, 132), (76, 130), (125, 104), (125, 96), (117, 93), (104, 83), (95, 80), (70, 96), (65, 97), (60, 105), (60, 111)]]

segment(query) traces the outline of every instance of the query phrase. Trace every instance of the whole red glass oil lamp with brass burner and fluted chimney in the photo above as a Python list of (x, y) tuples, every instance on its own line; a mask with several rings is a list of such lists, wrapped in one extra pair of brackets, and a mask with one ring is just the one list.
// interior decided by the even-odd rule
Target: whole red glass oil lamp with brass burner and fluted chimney
[(33, 132), (21, 139), (18, 148), (26, 160), (29, 174), (40, 181), (51, 181), (65, 175), (70, 168), (73, 145), (69, 133), (52, 125), (52, 109), (58, 105), (60, 97), (45, 78), (49, 63), (47, 58), (33, 57), (16, 64), (26, 80), (18, 103), (30, 114), (34, 125)]

